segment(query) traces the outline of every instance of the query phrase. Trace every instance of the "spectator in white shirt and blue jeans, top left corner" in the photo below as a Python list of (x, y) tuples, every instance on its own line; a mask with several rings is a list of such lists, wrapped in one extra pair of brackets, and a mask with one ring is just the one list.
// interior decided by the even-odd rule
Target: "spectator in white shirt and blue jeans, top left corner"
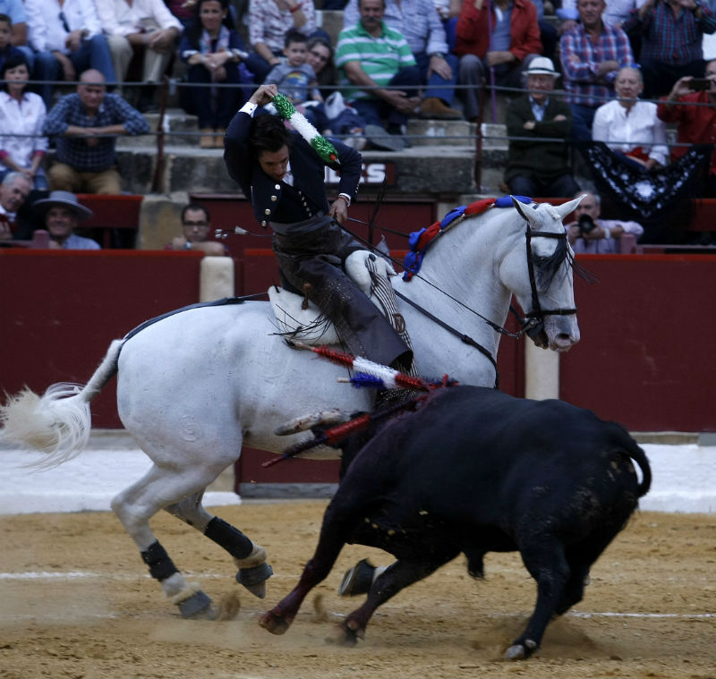
[[(107, 82), (116, 82), (95, 5), (72, 0), (25, 0), (30, 47), (35, 50), (32, 77), (36, 81), (76, 81), (77, 74), (97, 69)], [(51, 82), (38, 85), (45, 106), (52, 106)]]

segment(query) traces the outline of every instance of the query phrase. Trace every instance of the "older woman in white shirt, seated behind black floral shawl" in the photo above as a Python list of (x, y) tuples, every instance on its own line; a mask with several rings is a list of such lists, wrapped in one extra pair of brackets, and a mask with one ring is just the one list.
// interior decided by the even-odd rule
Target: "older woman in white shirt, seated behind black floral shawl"
[(630, 157), (646, 169), (665, 166), (669, 157), (666, 126), (656, 116), (656, 104), (640, 101), (642, 74), (623, 68), (614, 81), (617, 98), (600, 106), (592, 123), (592, 140)]

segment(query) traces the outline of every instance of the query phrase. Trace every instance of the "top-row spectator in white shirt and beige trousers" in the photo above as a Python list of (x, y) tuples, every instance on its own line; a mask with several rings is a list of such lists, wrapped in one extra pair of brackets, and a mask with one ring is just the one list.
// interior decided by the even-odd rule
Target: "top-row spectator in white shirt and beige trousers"
[[(143, 59), (141, 81), (161, 81), (183, 29), (163, 0), (133, 0), (132, 4), (126, 0), (95, 0), (95, 4), (107, 33), (117, 79), (126, 79), (136, 52)], [(153, 86), (141, 89), (137, 106), (142, 113), (156, 108), (154, 90)]]

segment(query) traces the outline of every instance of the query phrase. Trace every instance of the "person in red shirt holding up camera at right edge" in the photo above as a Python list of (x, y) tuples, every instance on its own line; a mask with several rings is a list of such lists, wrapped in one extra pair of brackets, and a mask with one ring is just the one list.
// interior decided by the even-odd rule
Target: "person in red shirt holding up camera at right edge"
[[(716, 60), (706, 64), (705, 77), (711, 81), (709, 89), (692, 89), (693, 79), (686, 75), (659, 101), (656, 115), (664, 123), (676, 123), (677, 142), (682, 145), (672, 147), (672, 161), (683, 157), (689, 145), (716, 144)], [(716, 150), (712, 153), (703, 196), (716, 198)]]

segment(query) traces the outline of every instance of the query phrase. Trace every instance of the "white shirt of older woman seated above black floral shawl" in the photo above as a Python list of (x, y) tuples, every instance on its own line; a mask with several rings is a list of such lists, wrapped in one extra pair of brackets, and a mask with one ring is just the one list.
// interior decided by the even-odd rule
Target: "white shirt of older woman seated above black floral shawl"
[(643, 146), (644, 153), (660, 165), (666, 165), (669, 157), (666, 125), (656, 117), (656, 104), (651, 101), (637, 101), (628, 114), (617, 99), (600, 106), (594, 114), (592, 140), (604, 141), (621, 153)]

